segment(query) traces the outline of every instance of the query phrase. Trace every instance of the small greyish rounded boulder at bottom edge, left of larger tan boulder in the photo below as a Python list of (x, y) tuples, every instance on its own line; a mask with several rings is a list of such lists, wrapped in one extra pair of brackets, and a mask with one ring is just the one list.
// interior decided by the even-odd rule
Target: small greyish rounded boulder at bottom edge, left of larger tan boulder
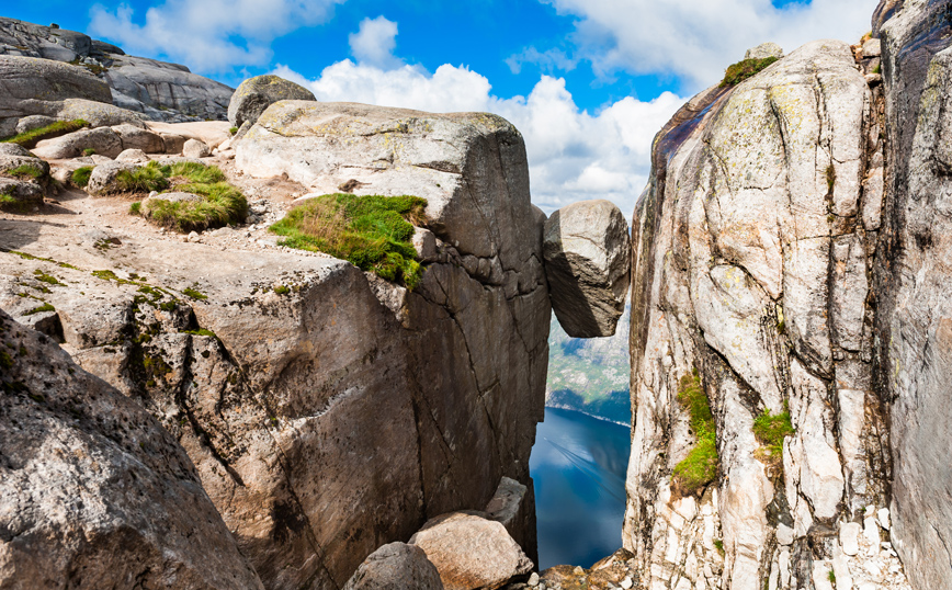
[(440, 572), (420, 547), (390, 543), (372, 553), (344, 590), (443, 590)]

